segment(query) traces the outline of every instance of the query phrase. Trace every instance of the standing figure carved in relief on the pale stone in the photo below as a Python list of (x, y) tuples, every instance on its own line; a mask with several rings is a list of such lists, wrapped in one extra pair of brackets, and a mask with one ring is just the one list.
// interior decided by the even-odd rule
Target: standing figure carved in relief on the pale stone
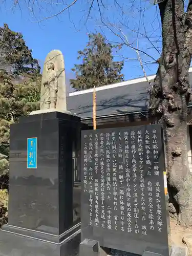
[(58, 92), (58, 79), (57, 72), (55, 71), (55, 66), (52, 62), (47, 62), (47, 78), (44, 81), (44, 86), (47, 87), (46, 91), (48, 97), (45, 98), (45, 109), (55, 109), (57, 103), (57, 92)]

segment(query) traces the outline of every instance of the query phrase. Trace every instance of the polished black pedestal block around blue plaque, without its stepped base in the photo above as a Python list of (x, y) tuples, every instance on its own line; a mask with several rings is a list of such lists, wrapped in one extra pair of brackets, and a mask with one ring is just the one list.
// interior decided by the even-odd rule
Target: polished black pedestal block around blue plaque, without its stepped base
[[(9, 225), (53, 234), (73, 225), (72, 153), (81, 123), (67, 116), (31, 115), (11, 125)], [(27, 138), (33, 137), (37, 138), (37, 168), (29, 169)]]

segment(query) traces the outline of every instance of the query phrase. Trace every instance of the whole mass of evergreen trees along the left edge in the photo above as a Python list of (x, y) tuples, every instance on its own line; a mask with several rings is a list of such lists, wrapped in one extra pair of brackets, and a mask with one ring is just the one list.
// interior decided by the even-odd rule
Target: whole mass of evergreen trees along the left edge
[(38, 61), (32, 57), (23, 35), (11, 31), (7, 24), (0, 28), (0, 65), (1, 178), (7, 177), (9, 170), (10, 124), (39, 109), (41, 79)]

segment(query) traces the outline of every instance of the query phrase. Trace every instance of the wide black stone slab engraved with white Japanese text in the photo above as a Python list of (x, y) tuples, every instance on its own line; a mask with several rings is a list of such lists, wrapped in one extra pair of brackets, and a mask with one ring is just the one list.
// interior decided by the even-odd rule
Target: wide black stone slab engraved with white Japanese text
[(82, 131), (81, 152), (81, 241), (168, 256), (161, 125)]

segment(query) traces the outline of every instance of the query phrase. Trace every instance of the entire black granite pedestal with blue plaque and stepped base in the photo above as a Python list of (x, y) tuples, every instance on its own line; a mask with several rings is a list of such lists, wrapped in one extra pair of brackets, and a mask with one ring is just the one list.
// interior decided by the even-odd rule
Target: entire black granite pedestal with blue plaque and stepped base
[(81, 127), (80, 118), (59, 112), (11, 125), (9, 218), (0, 231), (1, 256), (78, 254), (72, 154)]

